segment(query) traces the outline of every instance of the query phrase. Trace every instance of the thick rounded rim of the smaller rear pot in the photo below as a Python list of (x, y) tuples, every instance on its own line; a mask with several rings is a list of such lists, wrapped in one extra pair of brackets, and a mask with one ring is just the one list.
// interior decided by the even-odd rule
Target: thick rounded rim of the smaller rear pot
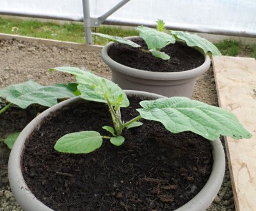
[[(126, 38), (132, 39), (137, 38), (139, 36), (128, 36)], [(177, 41), (182, 42), (182, 41)], [(146, 70), (139, 70), (136, 68), (131, 68), (129, 66), (122, 65), (120, 63), (117, 63), (113, 59), (111, 59), (108, 56), (109, 48), (114, 44), (115, 42), (109, 42), (108, 44), (104, 45), (101, 51), (101, 56), (104, 62), (111, 68), (111, 70), (115, 70), (116, 72), (120, 72), (125, 75), (130, 75), (133, 77), (139, 77), (143, 79), (149, 79), (149, 80), (159, 80), (159, 81), (170, 81), (170, 80), (181, 80), (181, 79), (189, 79), (193, 77), (198, 77), (199, 75), (202, 75), (205, 70), (209, 69), (209, 66), (211, 65), (211, 59), (207, 54), (204, 54), (205, 61), (201, 66), (198, 66), (191, 70), (186, 71), (180, 71), (180, 72), (150, 72)], [(115, 66), (119, 66), (119, 68), (114, 68)]]

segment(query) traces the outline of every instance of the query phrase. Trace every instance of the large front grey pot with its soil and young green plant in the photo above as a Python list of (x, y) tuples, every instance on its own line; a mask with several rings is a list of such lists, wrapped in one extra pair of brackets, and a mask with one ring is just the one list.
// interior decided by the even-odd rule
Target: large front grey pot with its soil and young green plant
[[(15, 142), (8, 174), (24, 210), (205, 210), (225, 171), (218, 137), (251, 137), (225, 109), (186, 97), (124, 91), (78, 68), (54, 70), (75, 75), (81, 97), (47, 109)], [(141, 107), (130, 109), (133, 104)], [(204, 167), (185, 165), (176, 171), (179, 161), (192, 160)], [(196, 175), (204, 176), (202, 187)], [(185, 187), (178, 180), (186, 180)]]

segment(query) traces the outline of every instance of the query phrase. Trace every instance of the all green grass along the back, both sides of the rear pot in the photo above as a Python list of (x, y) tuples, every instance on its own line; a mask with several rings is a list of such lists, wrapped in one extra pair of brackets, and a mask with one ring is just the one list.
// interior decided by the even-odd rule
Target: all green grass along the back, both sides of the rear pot
[[(135, 29), (124, 29), (122, 27), (100, 26), (92, 31), (115, 36), (138, 35)], [(67, 42), (84, 43), (83, 23), (56, 24), (53, 22), (40, 22), (39, 20), (3, 19), (0, 17), (0, 33), (11, 35), (32, 36), (36, 38), (47, 38)], [(99, 36), (93, 36), (93, 43), (105, 45), (107, 41)], [(256, 44), (243, 45), (234, 40), (224, 40), (215, 43), (225, 56), (243, 56), (256, 58)]]

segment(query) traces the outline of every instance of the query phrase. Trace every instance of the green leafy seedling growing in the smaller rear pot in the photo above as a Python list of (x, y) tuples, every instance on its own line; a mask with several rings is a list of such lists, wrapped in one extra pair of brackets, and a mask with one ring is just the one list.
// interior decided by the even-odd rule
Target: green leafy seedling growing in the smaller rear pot
[[(220, 56), (221, 53), (218, 49), (208, 40), (201, 38), (197, 35), (191, 35), (190, 33), (185, 33), (182, 31), (166, 31), (163, 20), (157, 20), (156, 29), (150, 27), (138, 26), (137, 30), (140, 31), (140, 38), (142, 38), (147, 44), (148, 51), (151, 52), (157, 58), (164, 60), (170, 59), (168, 54), (161, 51), (166, 45), (174, 44), (177, 40), (182, 40), (186, 42), (189, 47), (196, 47), (201, 51), (211, 52), (214, 56)], [(122, 38), (119, 36), (104, 35), (102, 33), (93, 33), (93, 35), (98, 35), (106, 38), (112, 42), (123, 43), (125, 45), (130, 45), (131, 47), (140, 48), (141, 46), (127, 38)]]

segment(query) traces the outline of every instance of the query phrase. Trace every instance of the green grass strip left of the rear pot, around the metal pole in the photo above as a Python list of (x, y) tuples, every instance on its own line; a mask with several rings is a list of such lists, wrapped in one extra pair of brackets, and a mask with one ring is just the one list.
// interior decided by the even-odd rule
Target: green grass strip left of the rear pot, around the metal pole
[[(138, 35), (136, 30), (122, 29), (121, 27), (101, 26), (93, 28), (92, 31), (116, 36)], [(0, 33), (62, 40), (67, 42), (85, 42), (83, 23), (60, 25), (52, 22), (40, 22), (39, 20), (3, 19), (0, 17)], [(93, 36), (93, 41), (97, 45), (106, 44), (104, 38), (95, 38)]]

